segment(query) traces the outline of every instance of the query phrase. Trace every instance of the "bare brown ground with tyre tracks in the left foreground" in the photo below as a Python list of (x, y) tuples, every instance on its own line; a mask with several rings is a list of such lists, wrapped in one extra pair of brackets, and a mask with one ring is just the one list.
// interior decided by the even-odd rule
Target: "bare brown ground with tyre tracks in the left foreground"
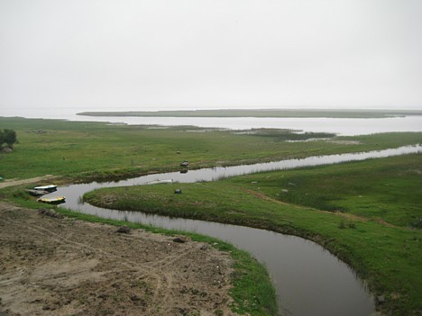
[(228, 254), (116, 230), (0, 201), (0, 315), (234, 315)]

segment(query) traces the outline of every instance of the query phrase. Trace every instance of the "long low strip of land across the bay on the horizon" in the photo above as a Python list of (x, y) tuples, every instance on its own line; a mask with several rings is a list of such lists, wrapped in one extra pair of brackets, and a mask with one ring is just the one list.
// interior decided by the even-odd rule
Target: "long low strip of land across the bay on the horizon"
[(390, 116), (422, 115), (422, 110), (365, 110), (365, 109), (222, 109), (188, 111), (129, 111), (82, 112), (85, 116), (143, 116), (143, 117), (329, 117), (329, 118), (386, 118)]

